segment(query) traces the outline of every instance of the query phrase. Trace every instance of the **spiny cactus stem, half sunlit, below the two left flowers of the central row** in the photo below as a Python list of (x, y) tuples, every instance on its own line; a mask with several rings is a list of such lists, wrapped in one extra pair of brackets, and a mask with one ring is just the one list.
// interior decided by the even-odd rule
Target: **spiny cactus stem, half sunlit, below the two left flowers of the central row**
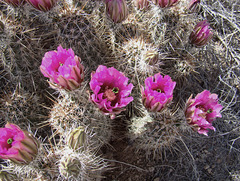
[[(72, 132), (79, 126), (86, 128), (86, 140), (91, 149), (99, 149), (111, 138), (111, 120), (97, 111), (89, 101), (89, 95), (82, 90), (73, 94), (63, 94), (56, 100), (47, 123), (61, 139), (66, 132)], [(89, 149), (90, 149), (89, 148)]]

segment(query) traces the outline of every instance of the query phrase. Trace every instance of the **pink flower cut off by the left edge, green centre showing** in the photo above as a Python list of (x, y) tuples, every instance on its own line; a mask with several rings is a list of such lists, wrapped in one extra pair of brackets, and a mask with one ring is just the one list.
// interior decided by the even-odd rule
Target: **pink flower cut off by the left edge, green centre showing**
[(15, 124), (7, 123), (0, 128), (0, 158), (28, 164), (36, 157), (38, 147), (38, 141)]

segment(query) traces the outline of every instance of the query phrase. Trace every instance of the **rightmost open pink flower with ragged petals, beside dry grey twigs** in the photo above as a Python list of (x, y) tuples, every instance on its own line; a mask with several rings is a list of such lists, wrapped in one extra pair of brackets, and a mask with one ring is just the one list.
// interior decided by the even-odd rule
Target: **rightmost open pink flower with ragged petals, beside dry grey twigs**
[(215, 131), (212, 122), (217, 117), (222, 117), (222, 105), (218, 104), (218, 95), (211, 94), (208, 90), (199, 93), (195, 99), (192, 96), (186, 103), (185, 116), (188, 124), (199, 134), (208, 135), (208, 130)]

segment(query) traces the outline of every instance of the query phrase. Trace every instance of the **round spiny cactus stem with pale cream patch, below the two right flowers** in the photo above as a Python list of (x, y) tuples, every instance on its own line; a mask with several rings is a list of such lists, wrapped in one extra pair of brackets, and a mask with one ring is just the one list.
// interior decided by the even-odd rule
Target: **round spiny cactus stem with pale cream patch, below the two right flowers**
[(174, 149), (181, 131), (180, 120), (169, 110), (162, 114), (145, 112), (143, 117), (131, 119), (128, 137), (137, 152), (144, 151), (150, 160), (161, 159), (165, 151)]

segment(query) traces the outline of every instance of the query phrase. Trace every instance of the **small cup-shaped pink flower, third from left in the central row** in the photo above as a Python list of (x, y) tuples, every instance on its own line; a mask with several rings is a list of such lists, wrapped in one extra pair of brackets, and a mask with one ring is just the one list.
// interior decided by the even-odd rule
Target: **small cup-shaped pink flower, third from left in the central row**
[(176, 82), (171, 77), (158, 73), (145, 79), (145, 89), (142, 86), (143, 105), (151, 112), (160, 112), (173, 99), (173, 89)]

